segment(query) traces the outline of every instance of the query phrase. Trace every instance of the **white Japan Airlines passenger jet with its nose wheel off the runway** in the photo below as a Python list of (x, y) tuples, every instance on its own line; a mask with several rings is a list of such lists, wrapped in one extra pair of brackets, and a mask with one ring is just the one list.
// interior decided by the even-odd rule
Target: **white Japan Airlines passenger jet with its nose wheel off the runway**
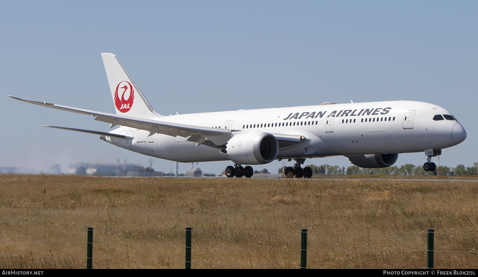
[[(71, 111), (110, 123), (109, 132), (44, 126), (93, 133), (110, 144), (176, 162), (231, 161), (227, 177), (252, 177), (250, 165), (294, 160), (286, 176), (312, 177), (306, 158), (344, 155), (359, 167), (392, 166), (400, 153), (432, 157), (463, 142), (467, 133), (444, 108), (418, 101), (380, 101), (161, 115), (153, 110), (116, 55), (101, 53), (116, 114), (48, 102), (13, 99)], [(243, 167), (244, 166), (244, 167)]]

